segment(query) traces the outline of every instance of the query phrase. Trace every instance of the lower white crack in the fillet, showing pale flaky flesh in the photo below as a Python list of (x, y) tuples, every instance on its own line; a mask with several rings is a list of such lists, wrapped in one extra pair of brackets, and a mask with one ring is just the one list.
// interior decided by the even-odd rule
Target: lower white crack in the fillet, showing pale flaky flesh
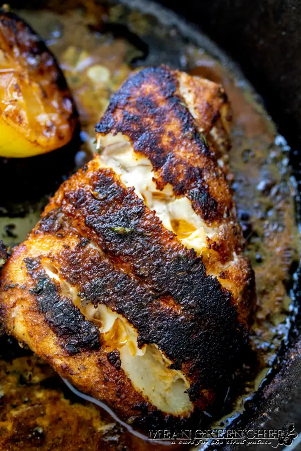
[[(88, 246), (98, 248), (93, 244)], [(50, 261), (43, 261), (42, 267), (48, 277), (59, 284), (62, 296), (72, 299), (84, 317), (96, 323), (107, 352), (118, 350), (120, 366), (135, 390), (142, 392), (153, 405), (167, 413), (177, 415), (193, 410), (189, 395), (185, 393), (190, 383), (182, 371), (170, 368), (172, 362), (156, 344), (143, 344), (139, 348), (138, 333), (122, 315), (105, 304), (95, 308), (89, 300), (82, 300), (79, 288), (62, 279), (58, 268)]]

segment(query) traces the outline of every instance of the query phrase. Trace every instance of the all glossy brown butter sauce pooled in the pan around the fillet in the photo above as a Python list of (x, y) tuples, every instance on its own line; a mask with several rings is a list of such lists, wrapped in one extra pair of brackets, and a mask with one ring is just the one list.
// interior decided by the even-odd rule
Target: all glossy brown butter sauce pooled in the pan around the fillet
[[(75, 166), (80, 166), (95, 150), (94, 124), (106, 109), (112, 93), (131, 72), (128, 63), (141, 56), (133, 42), (104, 32), (102, 23), (123, 20), (131, 31), (146, 39), (157, 20), (149, 14), (123, 10), (121, 5), (95, 7), (93, 2), (86, 2), (83, 9), (71, 8), (73, 4), (55, 5), (58, 13), (45, 10), (20, 11), (20, 14), (46, 40), (72, 90), (82, 130), (83, 143), (75, 157)], [(156, 34), (157, 39), (167, 39), (160, 33)], [(242, 410), (245, 398), (258, 387), (272, 366), (275, 352), (289, 327), (288, 290), (299, 257), (289, 148), (284, 138), (277, 135), (275, 125), (244, 80), (203, 48), (181, 41), (174, 27), (166, 33), (179, 45), (178, 67), (222, 83), (233, 112), (229, 164), (247, 241), (246, 253), (256, 275), (258, 308), (251, 347), (256, 351), (258, 363), (254, 371), (248, 372), (252, 377), (246, 376), (234, 406), (224, 410), (223, 421), (227, 424)], [(152, 54), (152, 44), (149, 46)], [(161, 58), (160, 55), (156, 64), (166, 63), (166, 56)], [(12, 218), (4, 211), (0, 234), (6, 244), (17, 244), (26, 237), (38, 220), (43, 203), (45, 199), (33, 205), (31, 212), (23, 217), (15, 214), (17, 217)], [(97, 406), (73, 396), (48, 365), (29, 351), (18, 349), (18, 345), (5, 336), (0, 356), (0, 449), (166, 449), (166, 446), (153, 445), (131, 435)], [(248, 362), (245, 366), (248, 367)]]

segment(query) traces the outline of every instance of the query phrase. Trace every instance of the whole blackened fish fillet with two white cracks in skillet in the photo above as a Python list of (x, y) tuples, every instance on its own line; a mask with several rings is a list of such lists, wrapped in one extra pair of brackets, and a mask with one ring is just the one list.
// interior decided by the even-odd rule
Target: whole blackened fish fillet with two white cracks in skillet
[(7, 332), (133, 423), (216, 408), (240, 364), (254, 274), (227, 182), (223, 88), (129, 77), (1, 281)]

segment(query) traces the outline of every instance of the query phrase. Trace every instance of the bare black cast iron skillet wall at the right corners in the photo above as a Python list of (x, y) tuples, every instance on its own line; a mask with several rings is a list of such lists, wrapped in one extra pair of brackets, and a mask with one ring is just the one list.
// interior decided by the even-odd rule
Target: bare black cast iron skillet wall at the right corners
[[(20, 2), (12, 3), (20, 7)], [(42, 2), (29, 3), (42, 7)], [(290, 163), (299, 182), (301, 3), (297, 0), (186, 0), (184, 3), (162, 0), (160, 3), (194, 21), (240, 64), (293, 149)], [(296, 281), (297, 303), (301, 300), (300, 290)], [(292, 421), (295, 429), (301, 431), (300, 377), (301, 315), (297, 315), (270, 380), (258, 390), (232, 427), (279, 429), (286, 421)], [(256, 446), (256, 450), (260, 448)]]

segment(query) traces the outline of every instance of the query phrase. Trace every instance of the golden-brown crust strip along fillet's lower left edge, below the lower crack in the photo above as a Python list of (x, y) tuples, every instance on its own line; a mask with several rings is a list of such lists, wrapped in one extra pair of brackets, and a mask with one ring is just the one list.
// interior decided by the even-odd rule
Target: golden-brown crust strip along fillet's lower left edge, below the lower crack
[[(41, 255), (59, 256), (65, 246), (80, 244), (79, 237), (72, 231), (64, 239), (51, 234), (35, 235), (34, 243), (29, 239), (12, 256), (9, 269), (19, 283), (12, 283), (14, 278), (8, 274), (8, 267), (4, 271), (2, 298), (6, 301), (2, 304), (2, 317), (7, 331), (12, 333), (17, 326), (21, 342), (28, 343), (79, 389), (108, 401), (124, 418), (141, 415), (145, 400), (132, 389), (123, 370), (109, 362), (95, 324), (84, 320), (71, 299), (62, 296), (59, 286), (41, 269)], [(152, 406), (149, 410), (153, 410)]]

